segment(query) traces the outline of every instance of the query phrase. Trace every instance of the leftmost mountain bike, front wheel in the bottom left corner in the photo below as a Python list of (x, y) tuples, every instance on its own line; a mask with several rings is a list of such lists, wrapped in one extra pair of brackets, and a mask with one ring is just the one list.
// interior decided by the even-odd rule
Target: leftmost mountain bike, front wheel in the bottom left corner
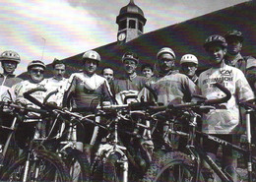
[[(15, 137), (19, 125), (28, 119), (26, 114), (28, 112), (46, 113), (46, 111), (23, 107), (13, 102), (2, 102), (2, 105), (11, 108), (15, 119), (10, 128), (2, 127), (10, 133), (3, 151), (0, 179), (3, 181), (69, 181), (67, 168), (59, 156), (38, 145), (38, 140), (31, 140), (18, 158), (9, 163), (5, 162), (8, 160), (6, 156), (8, 156), (10, 141)], [(40, 118), (33, 119), (35, 119), (34, 122), (40, 122)]]

